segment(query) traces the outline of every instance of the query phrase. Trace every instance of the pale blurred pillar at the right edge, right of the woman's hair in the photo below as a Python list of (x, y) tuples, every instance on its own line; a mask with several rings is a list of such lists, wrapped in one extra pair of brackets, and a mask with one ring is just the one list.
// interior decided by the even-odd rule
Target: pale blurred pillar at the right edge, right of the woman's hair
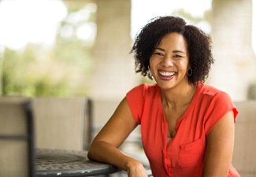
[(247, 90), (256, 80), (252, 1), (213, 0), (212, 13), (215, 64), (209, 82), (228, 92), (233, 100), (246, 100)]

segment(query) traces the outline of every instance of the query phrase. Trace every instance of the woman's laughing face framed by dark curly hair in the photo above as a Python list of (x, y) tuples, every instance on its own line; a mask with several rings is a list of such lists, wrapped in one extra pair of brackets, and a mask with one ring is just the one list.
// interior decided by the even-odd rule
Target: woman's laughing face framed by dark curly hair
[(172, 32), (163, 37), (150, 57), (150, 71), (161, 89), (188, 83), (189, 55), (183, 35)]

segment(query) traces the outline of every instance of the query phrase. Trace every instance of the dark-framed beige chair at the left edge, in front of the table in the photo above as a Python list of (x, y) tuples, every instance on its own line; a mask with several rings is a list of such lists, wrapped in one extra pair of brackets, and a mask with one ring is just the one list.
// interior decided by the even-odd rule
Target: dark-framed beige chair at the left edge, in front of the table
[(35, 176), (30, 101), (0, 98), (0, 176)]

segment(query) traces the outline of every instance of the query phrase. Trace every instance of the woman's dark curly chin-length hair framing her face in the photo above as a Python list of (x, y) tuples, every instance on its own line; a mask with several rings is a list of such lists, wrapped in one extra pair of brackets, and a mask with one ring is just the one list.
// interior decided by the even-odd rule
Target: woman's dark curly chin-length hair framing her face
[(154, 48), (165, 35), (171, 32), (183, 35), (187, 42), (189, 65), (193, 71), (192, 75), (188, 76), (189, 81), (194, 84), (198, 81), (204, 83), (214, 61), (211, 51), (212, 40), (210, 35), (201, 29), (194, 25), (187, 25), (181, 17), (155, 17), (139, 31), (130, 51), (135, 57), (135, 72), (150, 78), (150, 57)]

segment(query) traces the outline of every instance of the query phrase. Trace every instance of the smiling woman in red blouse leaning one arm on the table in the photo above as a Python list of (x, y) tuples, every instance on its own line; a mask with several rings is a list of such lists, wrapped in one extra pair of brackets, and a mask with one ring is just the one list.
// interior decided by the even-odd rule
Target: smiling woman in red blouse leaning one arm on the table
[(129, 177), (147, 176), (119, 149), (141, 125), (154, 177), (239, 176), (232, 167), (238, 111), (228, 94), (204, 84), (213, 64), (211, 39), (180, 17), (157, 17), (136, 36), (135, 72), (154, 78), (128, 92), (91, 143), (88, 157)]

